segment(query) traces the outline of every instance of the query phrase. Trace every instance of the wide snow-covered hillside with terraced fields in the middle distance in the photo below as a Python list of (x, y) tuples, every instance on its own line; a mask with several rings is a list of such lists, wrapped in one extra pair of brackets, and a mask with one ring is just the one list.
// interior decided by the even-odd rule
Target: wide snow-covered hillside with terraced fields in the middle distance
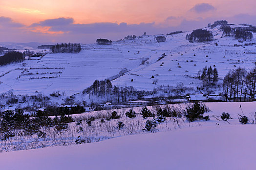
[[(83, 45), (78, 54), (47, 54), (41, 60), (32, 57), (34, 60), (0, 67), (0, 93), (12, 90), (16, 94), (34, 95), (39, 91), (48, 95), (59, 90), (72, 95), (94, 80), (117, 75), (124, 68), (129, 71), (113, 80), (113, 85), (152, 90), (183, 82), (185, 86), (196, 87), (201, 82), (192, 77), (205, 66), (215, 65), (220, 78), (235, 67), (253, 68), (255, 45), (244, 44), (255, 43), (256, 39), (240, 43), (233, 37), (221, 38), (222, 31), (218, 28), (210, 29), (214, 40), (208, 43), (189, 43), (185, 38), (189, 33), (167, 35), (164, 43), (156, 42), (157, 35), (143, 35), (135, 40), (113, 42), (111, 46)], [(242, 46), (234, 47), (234, 44)], [(163, 53), (167, 56), (157, 61)], [(157, 83), (152, 84), (155, 79)]]

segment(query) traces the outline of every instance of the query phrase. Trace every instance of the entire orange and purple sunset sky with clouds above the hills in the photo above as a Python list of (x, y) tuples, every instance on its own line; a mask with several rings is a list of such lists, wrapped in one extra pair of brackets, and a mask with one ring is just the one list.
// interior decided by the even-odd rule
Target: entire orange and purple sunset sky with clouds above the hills
[(0, 0), (0, 42), (79, 42), (256, 25), (256, 0)]

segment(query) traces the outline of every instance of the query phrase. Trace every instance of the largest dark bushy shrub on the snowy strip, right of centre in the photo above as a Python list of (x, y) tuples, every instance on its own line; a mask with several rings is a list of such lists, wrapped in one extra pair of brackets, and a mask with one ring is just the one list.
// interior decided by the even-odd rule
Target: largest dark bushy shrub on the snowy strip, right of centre
[(204, 117), (203, 114), (208, 109), (204, 104), (199, 104), (198, 102), (195, 102), (192, 106), (189, 106), (186, 108), (185, 117), (189, 121), (195, 121), (195, 120), (209, 120), (209, 116)]

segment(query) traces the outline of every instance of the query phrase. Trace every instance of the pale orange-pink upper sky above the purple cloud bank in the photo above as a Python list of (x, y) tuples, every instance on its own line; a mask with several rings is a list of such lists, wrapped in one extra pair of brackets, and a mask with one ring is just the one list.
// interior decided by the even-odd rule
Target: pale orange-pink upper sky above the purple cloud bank
[(193, 7), (198, 11), (195, 5), (202, 3), (210, 3), (215, 8), (214, 11), (205, 6), (212, 12), (206, 17), (255, 14), (255, 0), (0, 0), (0, 16), (11, 17), (26, 25), (59, 17), (72, 17), (76, 23), (84, 24), (161, 23), (170, 16), (186, 19), (205, 17), (200, 13), (187, 13)]

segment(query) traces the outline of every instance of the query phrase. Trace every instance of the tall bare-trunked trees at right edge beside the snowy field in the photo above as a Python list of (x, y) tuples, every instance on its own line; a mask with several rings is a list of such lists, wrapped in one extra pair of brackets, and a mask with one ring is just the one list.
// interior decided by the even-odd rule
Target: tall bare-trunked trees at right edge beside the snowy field
[(222, 85), (225, 101), (255, 101), (256, 67), (251, 70), (237, 68), (229, 71)]

